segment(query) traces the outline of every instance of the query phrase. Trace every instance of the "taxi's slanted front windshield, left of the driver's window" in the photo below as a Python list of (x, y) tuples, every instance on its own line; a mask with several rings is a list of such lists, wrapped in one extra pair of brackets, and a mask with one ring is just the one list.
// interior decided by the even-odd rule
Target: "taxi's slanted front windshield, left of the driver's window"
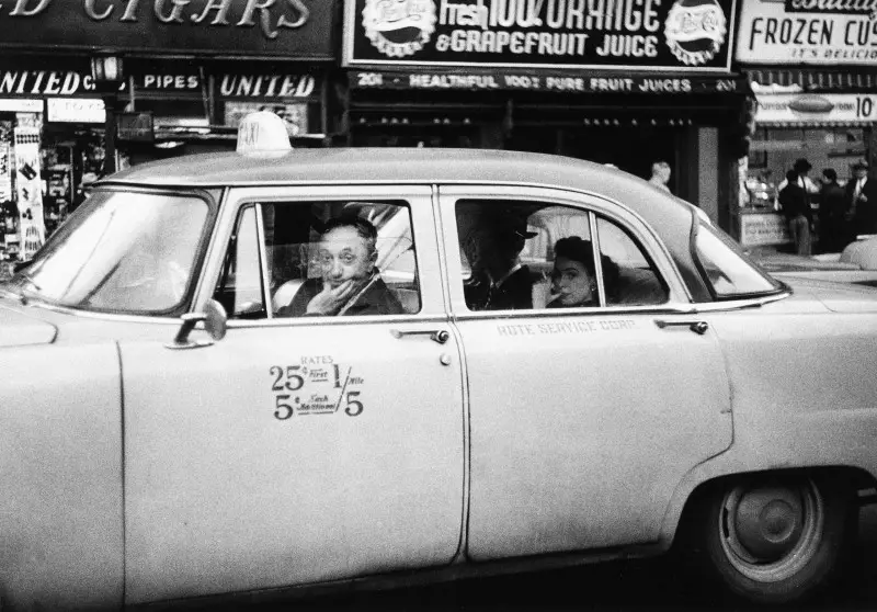
[(10, 285), (64, 306), (170, 313), (192, 282), (208, 213), (194, 196), (96, 191)]

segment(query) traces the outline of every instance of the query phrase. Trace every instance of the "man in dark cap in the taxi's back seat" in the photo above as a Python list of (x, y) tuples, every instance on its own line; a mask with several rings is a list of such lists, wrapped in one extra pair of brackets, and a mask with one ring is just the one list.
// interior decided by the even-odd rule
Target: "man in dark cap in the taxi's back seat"
[(472, 282), (466, 290), (466, 304), (472, 310), (514, 310), (533, 308), (533, 281), (520, 256), (527, 238), (525, 217), (498, 213), (480, 219), (469, 233), (466, 256), (472, 268)]

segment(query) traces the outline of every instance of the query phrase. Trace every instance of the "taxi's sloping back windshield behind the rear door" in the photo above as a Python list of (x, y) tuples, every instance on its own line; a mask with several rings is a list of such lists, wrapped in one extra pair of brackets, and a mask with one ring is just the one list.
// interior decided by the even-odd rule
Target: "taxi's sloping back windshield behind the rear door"
[(696, 254), (708, 286), (719, 298), (768, 293), (782, 285), (755, 268), (730, 238), (711, 225), (697, 228)]

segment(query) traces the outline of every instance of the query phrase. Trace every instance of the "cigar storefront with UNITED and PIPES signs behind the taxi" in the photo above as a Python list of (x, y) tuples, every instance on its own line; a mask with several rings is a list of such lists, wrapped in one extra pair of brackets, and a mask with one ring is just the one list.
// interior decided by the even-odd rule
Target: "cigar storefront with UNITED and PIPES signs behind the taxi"
[[(323, 146), (337, 13), (333, 0), (4, 2), (0, 258), (33, 254), (107, 168), (232, 149), (250, 111)], [(95, 54), (124, 67), (109, 93)]]

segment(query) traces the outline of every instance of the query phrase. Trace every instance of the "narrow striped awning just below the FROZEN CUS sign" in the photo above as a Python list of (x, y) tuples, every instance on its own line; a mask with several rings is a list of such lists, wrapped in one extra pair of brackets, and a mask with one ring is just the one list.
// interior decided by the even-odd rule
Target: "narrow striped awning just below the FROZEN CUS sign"
[(758, 68), (744, 72), (755, 93), (771, 91), (850, 91), (877, 89), (877, 75), (819, 68)]

